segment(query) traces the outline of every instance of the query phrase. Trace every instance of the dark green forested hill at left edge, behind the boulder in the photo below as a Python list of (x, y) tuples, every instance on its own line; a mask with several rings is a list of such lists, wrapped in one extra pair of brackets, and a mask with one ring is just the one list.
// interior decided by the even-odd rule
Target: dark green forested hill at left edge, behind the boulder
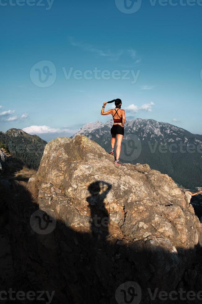
[(28, 168), (37, 169), (40, 165), (46, 141), (37, 135), (30, 135), (21, 129), (0, 132), (0, 142), (6, 146), (13, 157), (22, 161)]

